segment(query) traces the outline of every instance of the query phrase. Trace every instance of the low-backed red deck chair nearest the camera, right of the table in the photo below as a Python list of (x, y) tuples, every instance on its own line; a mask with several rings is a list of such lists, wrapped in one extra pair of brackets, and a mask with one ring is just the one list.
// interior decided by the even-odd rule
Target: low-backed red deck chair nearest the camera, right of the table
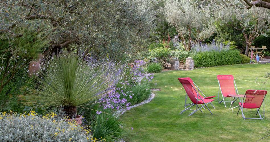
[[(242, 118), (244, 119), (263, 119), (264, 118), (264, 98), (267, 94), (267, 91), (266, 90), (247, 90), (246, 91), (246, 94), (242, 100), (242, 102), (245, 102), (244, 103), (241, 103), (239, 102), (239, 110), (241, 109), (241, 112), (242, 112)], [(261, 117), (261, 114), (259, 112), (260, 108), (261, 108), (261, 104), (263, 103), (263, 118)], [(257, 113), (256, 113), (256, 116), (257, 114), (259, 114), (259, 117), (260, 118), (246, 118), (244, 113), (243, 113), (243, 108), (256, 108), (257, 109)], [(238, 110), (238, 112), (239, 112)], [(237, 112), (237, 115), (238, 115), (238, 112)]]

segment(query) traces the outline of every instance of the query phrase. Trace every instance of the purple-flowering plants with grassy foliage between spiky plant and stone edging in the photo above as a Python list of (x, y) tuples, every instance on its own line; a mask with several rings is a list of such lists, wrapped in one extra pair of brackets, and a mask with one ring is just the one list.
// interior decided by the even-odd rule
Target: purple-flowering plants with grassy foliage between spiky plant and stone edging
[[(90, 57), (86, 61), (88, 66), (98, 66), (103, 70), (105, 78), (100, 82), (105, 80), (110, 82), (108, 84), (108, 93), (99, 100), (104, 109), (119, 110), (140, 103), (139, 101), (143, 101), (142, 99), (146, 99), (149, 96), (149, 82), (153, 79), (153, 74), (147, 74), (144, 70), (146, 62), (143, 60), (135, 60), (132, 64), (123, 64), (107, 59), (97, 61)], [(144, 76), (146, 77), (143, 83), (140, 83)], [(140, 97), (140, 99), (137, 99), (137, 97)], [(100, 111), (97, 113), (100, 113)]]

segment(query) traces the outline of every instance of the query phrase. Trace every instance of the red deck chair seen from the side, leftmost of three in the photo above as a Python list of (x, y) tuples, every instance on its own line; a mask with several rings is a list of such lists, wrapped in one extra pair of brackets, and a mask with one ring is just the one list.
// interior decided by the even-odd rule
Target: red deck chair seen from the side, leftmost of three
[[(192, 109), (190, 109), (190, 107), (192, 107), (194, 105), (196, 105), (196, 110), (192, 110), (193, 112), (191, 112), (188, 116), (194, 114), (198, 110), (200, 110), (202, 112), (201, 108), (204, 108), (204, 106), (206, 106), (207, 109), (210, 111), (207, 104), (209, 104), (209, 103), (211, 104), (211, 102), (214, 101), (214, 99), (210, 99), (210, 98), (213, 98), (215, 96), (205, 97), (205, 95), (202, 93), (202, 91), (198, 88), (198, 86), (190, 78), (178, 78), (178, 80), (183, 85), (183, 87), (186, 91), (186, 100), (187, 100), (187, 96), (188, 96), (190, 98), (190, 100), (192, 101), (192, 103), (186, 104), (186, 100), (185, 100), (185, 105), (184, 105), (185, 109), (182, 110), (180, 112), (180, 114), (182, 114), (186, 110), (192, 110)], [(199, 92), (196, 90), (194, 84), (199, 89), (199, 91), (203, 94), (204, 97), (202, 97), (202, 95), (199, 94)], [(191, 106), (189, 106), (189, 105), (191, 105)], [(202, 107), (199, 107), (198, 105), (202, 105)], [(187, 106), (189, 106), (189, 107), (187, 108)], [(213, 108), (215, 108), (215, 107), (213, 106)], [(210, 113), (213, 115), (213, 113), (211, 111), (210, 111)]]

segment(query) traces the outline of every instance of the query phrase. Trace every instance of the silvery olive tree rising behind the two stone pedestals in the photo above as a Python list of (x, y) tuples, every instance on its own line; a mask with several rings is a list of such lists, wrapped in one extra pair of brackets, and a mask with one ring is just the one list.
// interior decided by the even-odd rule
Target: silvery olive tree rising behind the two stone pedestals
[(194, 43), (213, 35), (213, 9), (212, 3), (167, 0), (163, 11), (166, 20), (176, 28), (185, 50), (190, 51)]

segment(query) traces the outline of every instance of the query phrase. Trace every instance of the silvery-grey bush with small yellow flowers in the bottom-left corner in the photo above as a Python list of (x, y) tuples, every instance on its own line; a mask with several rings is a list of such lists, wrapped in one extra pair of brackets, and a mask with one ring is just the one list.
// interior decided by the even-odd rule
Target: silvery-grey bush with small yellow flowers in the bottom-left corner
[(93, 138), (90, 130), (65, 119), (54, 119), (55, 116), (51, 113), (41, 117), (34, 111), (30, 114), (1, 112), (0, 141), (91, 141)]

